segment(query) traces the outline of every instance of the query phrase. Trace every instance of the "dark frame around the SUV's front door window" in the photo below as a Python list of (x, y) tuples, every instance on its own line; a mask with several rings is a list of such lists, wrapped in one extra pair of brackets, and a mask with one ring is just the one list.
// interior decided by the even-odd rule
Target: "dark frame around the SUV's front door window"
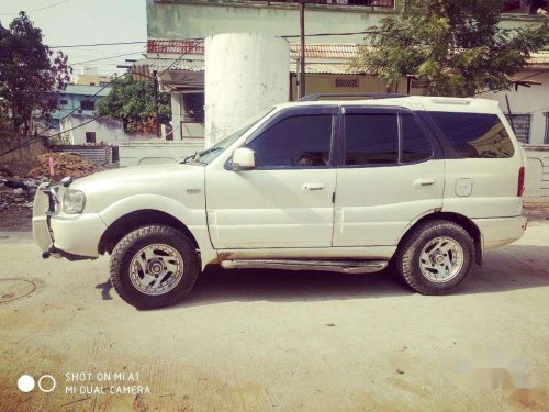
[[(256, 166), (253, 170), (322, 170), (322, 169), (333, 169), (336, 167), (336, 145), (337, 145), (337, 105), (335, 104), (322, 104), (322, 105), (309, 105), (303, 108), (288, 108), (279, 111), (267, 122), (261, 124), (250, 136), (248, 136), (240, 146), (246, 147), (254, 140), (259, 137), (261, 134), (267, 132), (269, 129), (273, 127), (282, 120), (288, 118), (293, 118), (298, 115), (332, 115), (332, 135), (329, 143), (329, 163), (326, 166)], [(225, 169), (231, 170), (231, 157), (225, 162)]]

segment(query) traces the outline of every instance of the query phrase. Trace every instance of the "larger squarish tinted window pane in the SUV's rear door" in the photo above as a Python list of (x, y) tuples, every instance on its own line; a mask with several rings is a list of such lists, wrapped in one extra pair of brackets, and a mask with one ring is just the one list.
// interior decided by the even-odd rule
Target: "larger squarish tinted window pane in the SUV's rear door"
[(396, 165), (397, 163), (396, 112), (345, 115), (345, 165)]

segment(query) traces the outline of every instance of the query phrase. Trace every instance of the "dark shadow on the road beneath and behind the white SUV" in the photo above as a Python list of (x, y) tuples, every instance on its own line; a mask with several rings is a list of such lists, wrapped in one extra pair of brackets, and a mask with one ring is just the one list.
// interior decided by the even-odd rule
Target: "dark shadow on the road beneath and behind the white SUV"
[[(538, 260), (536, 260), (536, 258)], [(455, 294), (494, 293), (549, 287), (549, 247), (506, 246), (489, 252)], [(208, 268), (191, 294), (175, 308), (232, 301), (322, 301), (411, 296), (391, 269), (377, 274)]]

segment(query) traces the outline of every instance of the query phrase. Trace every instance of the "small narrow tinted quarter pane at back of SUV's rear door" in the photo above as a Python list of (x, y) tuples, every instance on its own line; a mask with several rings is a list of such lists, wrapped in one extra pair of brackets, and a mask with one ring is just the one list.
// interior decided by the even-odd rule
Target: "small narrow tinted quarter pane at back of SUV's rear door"
[(401, 113), (402, 163), (427, 160), (433, 156), (433, 146), (411, 113)]

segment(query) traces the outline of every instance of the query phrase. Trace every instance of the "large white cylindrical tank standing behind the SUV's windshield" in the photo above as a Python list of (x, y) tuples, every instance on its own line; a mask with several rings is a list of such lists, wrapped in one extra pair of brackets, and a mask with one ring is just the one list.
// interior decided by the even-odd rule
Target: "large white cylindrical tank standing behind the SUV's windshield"
[(289, 100), (290, 44), (261, 33), (205, 40), (205, 147)]

